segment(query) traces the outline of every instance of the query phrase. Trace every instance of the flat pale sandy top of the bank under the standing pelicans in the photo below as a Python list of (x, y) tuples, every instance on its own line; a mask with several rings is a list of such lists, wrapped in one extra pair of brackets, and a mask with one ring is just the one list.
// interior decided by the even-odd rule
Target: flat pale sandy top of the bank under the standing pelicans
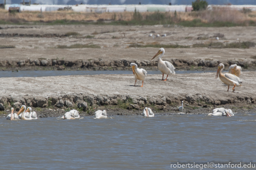
[[(166, 75), (165, 75), (166, 76)], [(255, 72), (243, 72), (243, 86), (235, 92), (227, 92), (227, 86), (215, 80), (215, 73), (176, 74), (161, 81), (162, 75), (147, 75), (143, 87), (141, 81), (134, 86), (134, 75), (85, 75), (56, 77), (0, 78), (0, 96), (5, 95), (65, 95), (88, 93), (102, 95), (136, 95), (144, 98), (165, 96), (183, 98), (187, 94), (200, 93), (212, 99), (256, 97)]]

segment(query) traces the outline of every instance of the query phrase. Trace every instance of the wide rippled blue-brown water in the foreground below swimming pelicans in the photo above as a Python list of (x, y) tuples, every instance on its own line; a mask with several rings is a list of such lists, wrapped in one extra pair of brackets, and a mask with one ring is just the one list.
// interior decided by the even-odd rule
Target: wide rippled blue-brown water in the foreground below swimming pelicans
[(256, 113), (100, 120), (1, 118), (0, 133), (0, 169), (148, 170), (171, 169), (171, 162), (177, 161), (255, 162), (256, 158)]

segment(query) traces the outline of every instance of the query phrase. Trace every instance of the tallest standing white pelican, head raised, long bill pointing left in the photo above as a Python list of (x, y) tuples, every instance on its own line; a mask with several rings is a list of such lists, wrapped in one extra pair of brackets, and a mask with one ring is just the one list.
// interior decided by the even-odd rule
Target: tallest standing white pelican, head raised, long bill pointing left
[[(168, 77), (168, 75), (170, 75), (170, 74), (175, 74), (175, 71), (174, 71), (174, 69), (175, 69), (175, 67), (173, 66), (173, 64), (171, 63), (171, 62), (169, 62), (169, 61), (163, 61), (161, 58), (163, 57), (163, 55), (164, 55), (164, 48), (160, 48), (159, 50), (158, 50), (158, 52), (156, 53), (156, 55), (151, 59), (151, 60), (153, 60), (156, 56), (158, 56), (159, 54), (161, 54), (160, 56), (159, 56), (159, 58), (158, 58), (158, 68), (159, 68), (159, 70), (163, 73), (163, 78), (162, 78), (162, 80), (164, 80), (164, 74), (167, 74), (167, 77)], [(167, 77), (166, 77), (166, 79), (164, 80), (164, 81), (166, 81), (167, 80)]]

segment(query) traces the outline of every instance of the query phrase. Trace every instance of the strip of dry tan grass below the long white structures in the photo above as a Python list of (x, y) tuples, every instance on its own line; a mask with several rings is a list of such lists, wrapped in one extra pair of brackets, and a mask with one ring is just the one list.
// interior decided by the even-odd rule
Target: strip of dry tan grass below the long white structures
[[(52, 21), (69, 21), (75, 22), (90, 22), (98, 21), (101, 23), (105, 20), (115, 21), (133, 21), (134, 12), (105, 12), (105, 13), (90, 13), (90, 12), (73, 12), (73, 11), (53, 11), (42, 12), (44, 17), (38, 17), (40, 12), (12, 12), (9, 13), (3, 9), (0, 9), (0, 21), (10, 23), (23, 23), (23, 22), (52, 22)], [(181, 23), (186, 21), (197, 22), (200, 20), (202, 23), (214, 23), (214, 22), (230, 22), (230, 23), (244, 23), (244, 22), (256, 22), (256, 11), (244, 13), (238, 10), (231, 9), (230, 7), (213, 8), (212, 10), (205, 10), (199, 12), (177, 12), (175, 17), (174, 12), (142, 12), (140, 13), (140, 21), (134, 24), (140, 24), (141, 21), (154, 21), (153, 24), (170, 24)], [(56, 22), (58, 24), (58, 22)], [(62, 24), (59, 22), (59, 24)], [(123, 23), (127, 24), (127, 23)], [(145, 25), (150, 22), (144, 22)], [(187, 26), (183, 24), (184, 26)], [(200, 26), (200, 25), (199, 25)]]

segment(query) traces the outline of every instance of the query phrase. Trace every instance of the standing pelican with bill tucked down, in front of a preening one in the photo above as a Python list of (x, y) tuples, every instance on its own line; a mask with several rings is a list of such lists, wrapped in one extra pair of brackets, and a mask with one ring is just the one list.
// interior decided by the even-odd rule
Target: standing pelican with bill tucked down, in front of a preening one
[(234, 74), (230, 74), (230, 73), (224, 73), (224, 74), (222, 74), (221, 71), (222, 71), (223, 69), (224, 69), (224, 64), (220, 63), (220, 64), (218, 65), (218, 70), (217, 70), (215, 79), (218, 78), (218, 75), (219, 75), (220, 80), (221, 80), (224, 84), (228, 85), (228, 90), (229, 90), (229, 86), (230, 86), (230, 85), (234, 85), (234, 87), (232, 88), (232, 89), (233, 89), (232, 92), (234, 92), (234, 91), (235, 91), (235, 86), (242, 86), (242, 85), (241, 85), (242, 82), (241, 82), (240, 78), (237, 77), (237, 76), (234, 75)]

